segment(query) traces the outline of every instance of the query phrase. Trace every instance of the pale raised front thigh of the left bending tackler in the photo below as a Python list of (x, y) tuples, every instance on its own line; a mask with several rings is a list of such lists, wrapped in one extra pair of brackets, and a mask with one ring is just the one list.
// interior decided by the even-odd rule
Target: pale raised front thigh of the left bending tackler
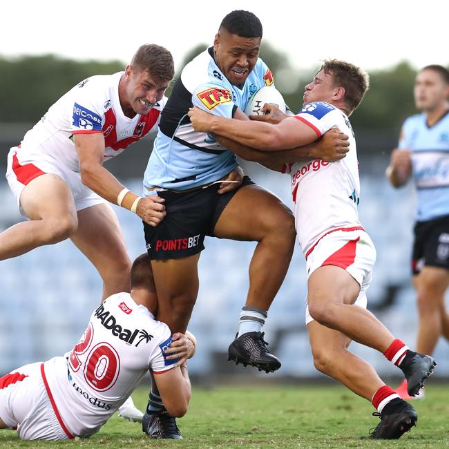
[(21, 191), (20, 205), (31, 220), (67, 218), (77, 223), (70, 187), (58, 175), (46, 173), (30, 181)]

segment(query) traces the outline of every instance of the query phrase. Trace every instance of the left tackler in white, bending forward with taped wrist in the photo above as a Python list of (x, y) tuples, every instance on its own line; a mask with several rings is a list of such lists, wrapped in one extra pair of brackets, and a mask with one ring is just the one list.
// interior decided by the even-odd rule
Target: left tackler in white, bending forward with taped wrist
[[(102, 277), (103, 299), (128, 291), (131, 260), (108, 201), (155, 226), (164, 200), (128, 191), (103, 162), (157, 128), (173, 73), (168, 50), (143, 45), (124, 72), (69, 90), (10, 150), (6, 178), (30, 220), (0, 233), (0, 260), (70, 238)], [(142, 419), (132, 403), (121, 413)]]

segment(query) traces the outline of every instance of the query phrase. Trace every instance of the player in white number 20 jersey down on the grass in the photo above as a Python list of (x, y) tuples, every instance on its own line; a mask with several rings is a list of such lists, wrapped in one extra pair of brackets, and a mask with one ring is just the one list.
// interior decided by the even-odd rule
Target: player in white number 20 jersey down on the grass
[(195, 350), (194, 337), (172, 338), (169, 327), (155, 321), (156, 311), (150, 260), (143, 254), (131, 269), (131, 294), (106, 298), (72, 351), (0, 379), (0, 428), (17, 428), (21, 439), (90, 437), (148, 370), (166, 410), (183, 416), (191, 397), (185, 360)]

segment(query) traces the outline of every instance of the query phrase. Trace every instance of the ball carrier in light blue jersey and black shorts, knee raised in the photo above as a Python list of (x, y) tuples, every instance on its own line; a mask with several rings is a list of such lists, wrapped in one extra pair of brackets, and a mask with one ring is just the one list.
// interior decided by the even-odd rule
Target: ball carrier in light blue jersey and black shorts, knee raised
[[(270, 372), (278, 370), (280, 361), (268, 352), (262, 326), (292, 257), (294, 218), (275, 195), (247, 177), (236, 176), (236, 156), (211, 135), (195, 132), (187, 116), (195, 105), (216, 115), (248, 120), (242, 110), (251, 94), (273, 84), (271, 71), (258, 58), (261, 39), (259, 19), (251, 12), (233, 11), (222, 20), (213, 46), (182, 71), (161, 115), (144, 175), (145, 195), (164, 198), (166, 216), (157, 227), (144, 225), (144, 231), (160, 300), (157, 318), (179, 332), (187, 328), (198, 295), (204, 236), (258, 242), (229, 359)], [(307, 157), (321, 149), (314, 155), (326, 158), (327, 147), (335, 157), (336, 146), (341, 141), (338, 145), (324, 141), (301, 151)], [(226, 187), (229, 181), (235, 189)], [(220, 316), (210, 319), (218, 321)], [(157, 399), (155, 390), (144, 418), (144, 432), (150, 436), (151, 423), (161, 410), (153, 398)], [(170, 432), (166, 437), (171, 437)]]

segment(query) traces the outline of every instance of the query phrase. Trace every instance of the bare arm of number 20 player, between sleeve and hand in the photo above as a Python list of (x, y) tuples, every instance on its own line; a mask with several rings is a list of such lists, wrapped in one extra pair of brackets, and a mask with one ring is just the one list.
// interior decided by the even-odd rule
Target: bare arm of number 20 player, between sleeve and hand
[(183, 417), (187, 413), (191, 397), (191, 385), (187, 365), (157, 373), (154, 378), (160, 397), (167, 412), (173, 417)]

